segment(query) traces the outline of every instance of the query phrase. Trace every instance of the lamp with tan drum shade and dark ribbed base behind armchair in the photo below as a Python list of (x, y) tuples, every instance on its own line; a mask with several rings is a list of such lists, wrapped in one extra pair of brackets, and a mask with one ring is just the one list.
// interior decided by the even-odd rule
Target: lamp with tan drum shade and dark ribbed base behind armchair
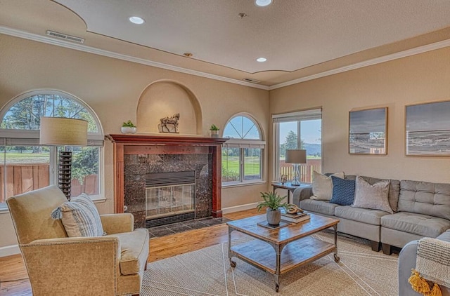
[(67, 146), (87, 145), (87, 121), (63, 117), (41, 117), (39, 144), (64, 146), (58, 155), (58, 187), (70, 201), (72, 152)]

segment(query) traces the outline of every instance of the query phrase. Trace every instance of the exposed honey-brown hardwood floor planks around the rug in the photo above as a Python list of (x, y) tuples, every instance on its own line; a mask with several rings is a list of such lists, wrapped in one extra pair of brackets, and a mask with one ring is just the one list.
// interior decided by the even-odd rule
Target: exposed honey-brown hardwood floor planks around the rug
[[(224, 215), (229, 220), (238, 220), (259, 215), (256, 209), (243, 210)], [(228, 241), (228, 227), (219, 224), (212, 227), (150, 239), (148, 262), (155, 262), (168, 257), (206, 248)], [(30, 281), (23, 264), (22, 256), (0, 257), (0, 295), (32, 295)]]

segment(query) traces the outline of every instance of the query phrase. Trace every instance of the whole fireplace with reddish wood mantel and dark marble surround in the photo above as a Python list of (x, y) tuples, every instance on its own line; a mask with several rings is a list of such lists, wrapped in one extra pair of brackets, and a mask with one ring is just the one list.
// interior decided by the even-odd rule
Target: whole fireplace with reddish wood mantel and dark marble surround
[[(221, 144), (227, 139), (139, 134), (108, 138), (114, 148), (115, 212), (132, 213), (135, 228), (171, 217), (221, 217)], [(194, 175), (194, 182), (164, 184), (165, 173)]]

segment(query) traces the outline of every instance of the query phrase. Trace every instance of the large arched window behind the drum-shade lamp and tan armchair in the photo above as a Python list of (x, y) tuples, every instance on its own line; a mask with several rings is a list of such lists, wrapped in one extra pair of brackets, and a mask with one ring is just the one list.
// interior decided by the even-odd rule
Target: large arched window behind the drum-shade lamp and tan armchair
[[(84, 119), (86, 147), (39, 145), (41, 116)], [(0, 111), (0, 208), (8, 197), (58, 184), (57, 154), (72, 151), (72, 196), (100, 199), (103, 132), (94, 111), (77, 97), (58, 90), (34, 90), (15, 97)]]

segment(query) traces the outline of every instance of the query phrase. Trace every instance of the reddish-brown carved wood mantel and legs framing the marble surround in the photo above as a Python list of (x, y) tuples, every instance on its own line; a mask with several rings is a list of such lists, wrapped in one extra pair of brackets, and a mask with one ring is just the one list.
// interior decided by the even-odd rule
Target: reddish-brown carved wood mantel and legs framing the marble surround
[(212, 154), (212, 216), (221, 217), (221, 145), (226, 138), (162, 136), (145, 134), (107, 135), (114, 149), (115, 213), (124, 213), (124, 155)]

